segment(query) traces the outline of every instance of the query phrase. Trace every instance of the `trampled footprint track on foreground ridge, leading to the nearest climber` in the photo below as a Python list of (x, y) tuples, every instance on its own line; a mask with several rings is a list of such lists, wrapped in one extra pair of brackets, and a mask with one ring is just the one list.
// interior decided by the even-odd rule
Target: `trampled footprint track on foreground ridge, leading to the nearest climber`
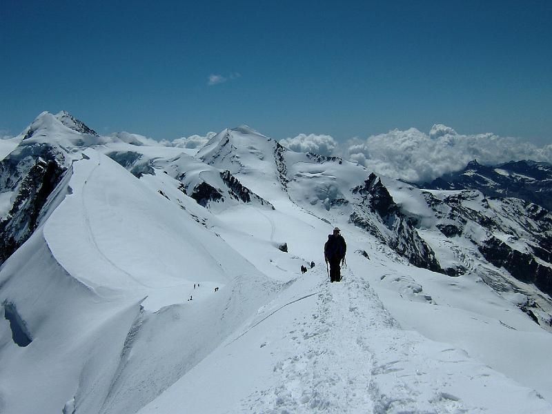
[[(313, 286), (315, 293), (299, 299), (315, 296), (316, 304), (310, 317), (297, 318), (293, 330), (286, 333), (295, 355), (275, 364), (280, 385), (249, 395), (242, 411), (343, 413), (344, 407), (371, 411), (373, 360), (364, 342), (371, 322), (357, 303), (363, 299), (361, 292), (355, 295), (358, 282), (345, 278), (341, 284), (329, 284), (322, 270), (306, 277), (319, 282)], [(358, 366), (364, 369), (359, 371)]]

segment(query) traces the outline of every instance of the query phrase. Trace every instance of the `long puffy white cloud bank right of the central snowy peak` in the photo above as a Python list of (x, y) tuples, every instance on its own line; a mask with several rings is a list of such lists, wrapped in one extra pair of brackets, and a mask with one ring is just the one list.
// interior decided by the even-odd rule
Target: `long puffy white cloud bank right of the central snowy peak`
[(462, 170), (473, 159), (484, 165), (522, 159), (552, 163), (552, 144), (538, 148), (519, 138), (492, 133), (462, 135), (444, 125), (434, 125), (429, 134), (416, 128), (391, 130), (344, 144), (337, 144), (329, 135), (300, 134), (282, 139), (280, 144), (297, 152), (339, 155), (368, 170), (413, 182), (431, 181)]

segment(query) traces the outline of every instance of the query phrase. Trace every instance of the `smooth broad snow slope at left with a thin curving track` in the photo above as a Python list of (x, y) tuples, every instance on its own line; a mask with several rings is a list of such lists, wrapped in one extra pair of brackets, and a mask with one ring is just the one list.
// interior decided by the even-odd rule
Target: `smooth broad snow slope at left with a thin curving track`
[(71, 194), (44, 233), (57, 262), (99, 295), (147, 295), (144, 306), (157, 311), (187, 297), (194, 282), (214, 288), (230, 282), (228, 275), (253, 271), (246, 264), (224, 268), (228, 245), (119, 164), (92, 150), (83, 157), (73, 164)]

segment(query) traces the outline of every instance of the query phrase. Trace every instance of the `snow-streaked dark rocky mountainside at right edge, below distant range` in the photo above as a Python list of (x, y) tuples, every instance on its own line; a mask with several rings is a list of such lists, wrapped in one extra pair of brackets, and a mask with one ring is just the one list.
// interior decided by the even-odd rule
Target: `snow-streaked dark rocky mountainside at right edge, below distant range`
[(424, 197), (435, 212), (435, 227), (446, 237), (467, 238), (493, 266), (552, 293), (552, 215), (545, 208), (517, 198), (484, 197), (476, 190)]

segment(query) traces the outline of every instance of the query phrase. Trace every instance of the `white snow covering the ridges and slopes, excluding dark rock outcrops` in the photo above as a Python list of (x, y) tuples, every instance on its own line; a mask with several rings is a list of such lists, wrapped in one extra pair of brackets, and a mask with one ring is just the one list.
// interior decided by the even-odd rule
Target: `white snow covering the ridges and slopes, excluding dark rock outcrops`
[[(367, 178), (361, 167), (337, 178), (337, 161), (288, 152), (286, 193), (275, 141), (249, 128), (196, 158), (88, 138), (0, 268), (0, 303), (32, 338), (17, 346), (0, 318), (1, 413), (552, 413), (552, 335), (515, 306), (523, 298), (497, 295), (477, 269), (410, 266), (348, 224), (346, 206), (328, 207)], [(124, 150), (155, 172), (137, 178), (104, 155)], [(275, 209), (203, 208), (179, 189), (187, 168), (188, 184), (228, 169)], [(419, 190), (384, 184), (431, 227)], [(334, 226), (348, 254), (330, 284)]]

